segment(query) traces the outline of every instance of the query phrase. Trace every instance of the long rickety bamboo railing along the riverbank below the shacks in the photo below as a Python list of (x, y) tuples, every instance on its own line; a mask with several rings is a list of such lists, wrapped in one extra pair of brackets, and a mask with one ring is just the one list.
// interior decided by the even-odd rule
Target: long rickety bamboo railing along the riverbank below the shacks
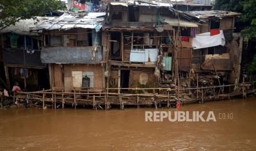
[[(229, 89), (227, 89), (229, 88)], [(222, 90), (226, 90), (223, 92)], [(208, 91), (211, 93), (207, 93)], [(129, 91), (130, 93), (122, 93)], [(151, 93), (149, 92), (151, 91)], [(42, 108), (46, 103), (51, 103), (52, 108), (64, 108), (65, 104), (72, 104), (76, 109), (77, 104), (92, 105), (94, 109), (105, 106), (108, 109), (109, 104), (120, 105), (123, 109), (124, 104), (137, 105), (157, 104), (164, 100), (167, 107), (177, 101), (200, 101), (211, 98), (224, 98), (236, 95), (246, 97), (246, 94), (254, 92), (254, 82), (241, 84), (230, 84), (221, 86), (197, 86), (195, 88), (91, 88), (91, 89), (69, 89), (53, 88), (50, 90), (34, 92), (16, 92), (15, 99), (29, 101), (39, 101)], [(128, 98), (129, 101), (124, 101)], [(144, 100), (144, 101), (143, 101)], [(146, 100), (146, 101), (145, 101)]]

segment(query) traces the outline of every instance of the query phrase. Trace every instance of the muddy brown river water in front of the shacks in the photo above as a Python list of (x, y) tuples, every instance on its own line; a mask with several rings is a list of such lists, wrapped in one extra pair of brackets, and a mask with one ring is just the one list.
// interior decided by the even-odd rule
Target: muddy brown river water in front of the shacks
[(179, 109), (191, 114), (213, 111), (216, 121), (205, 122), (145, 121), (146, 111), (175, 108), (2, 109), (0, 150), (255, 150), (255, 108), (254, 97), (183, 104)]

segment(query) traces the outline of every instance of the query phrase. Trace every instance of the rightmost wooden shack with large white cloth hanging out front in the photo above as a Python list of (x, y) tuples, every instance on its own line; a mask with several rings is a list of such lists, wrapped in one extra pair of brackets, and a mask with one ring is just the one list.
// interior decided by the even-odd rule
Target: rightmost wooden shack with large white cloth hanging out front
[[(204, 73), (215, 77), (216, 85), (238, 83), (242, 45), (238, 34), (233, 34), (236, 16), (240, 13), (228, 11), (186, 11), (190, 17), (197, 17), (201, 25), (193, 36), (193, 73)], [(195, 74), (194, 74), (195, 75)], [(206, 78), (208, 79), (208, 78)], [(212, 82), (204, 85), (212, 85)], [(211, 81), (211, 80), (210, 80)]]

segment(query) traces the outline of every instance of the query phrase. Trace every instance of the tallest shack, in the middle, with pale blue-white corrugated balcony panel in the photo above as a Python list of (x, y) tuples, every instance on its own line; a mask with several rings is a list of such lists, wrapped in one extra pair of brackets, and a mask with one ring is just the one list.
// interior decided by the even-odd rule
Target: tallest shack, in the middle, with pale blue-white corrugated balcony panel
[[(108, 51), (106, 71), (110, 77), (107, 88), (159, 88), (165, 73), (169, 83), (173, 82), (173, 61), (176, 59), (172, 57), (175, 57), (174, 46), (178, 41), (179, 68), (189, 71), (192, 40), (190, 46), (183, 46), (177, 33), (179, 27), (194, 29), (198, 25), (186, 18), (178, 19), (169, 8), (170, 4), (141, 1), (110, 3), (105, 25), (107, 40), (102, 43), (107, 45), (105, 49)], [(188, 36), (187, 33), (184, 36)], [(140, 93), (146, 92), (149, 91)]]

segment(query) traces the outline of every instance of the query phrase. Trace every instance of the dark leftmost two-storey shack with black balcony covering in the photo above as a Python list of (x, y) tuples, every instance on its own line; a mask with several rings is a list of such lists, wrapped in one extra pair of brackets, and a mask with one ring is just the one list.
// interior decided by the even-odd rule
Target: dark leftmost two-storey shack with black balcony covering
[[(37, 19), (44, 21), (42, 17)], [(0, 60), (4, 69), (1, 70), (1, 77), (6, 79), (9, 90), (15, 82), (19, 82), (21, 89), (49, 88), (48, 70), (40, 59), (42, 37), (37, 32), (30, 32), (30, 27), (36, 25), (33, 19), (20, 20), (0, 31)]]

